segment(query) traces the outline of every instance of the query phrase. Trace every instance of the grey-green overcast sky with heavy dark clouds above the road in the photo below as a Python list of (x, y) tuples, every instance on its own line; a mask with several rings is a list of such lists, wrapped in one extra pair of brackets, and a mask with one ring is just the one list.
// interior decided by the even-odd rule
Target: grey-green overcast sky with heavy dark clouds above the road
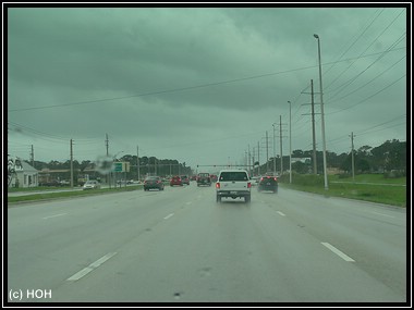
[(350, 152), (352, 132), (355, 149), (405, 140), (405, 9), (297, 5), (9, 8), (8, 152), (66, 161), (73, 139), (74, 159), (96, 160), (108, 134), (111, 156), (194, 168), (259, 144), (265, 163), (280, 115), (289, 154), (288, 101), (292, 149), (312, 149), (310, 79), (321, 150), (314, 34), (327, 150)]

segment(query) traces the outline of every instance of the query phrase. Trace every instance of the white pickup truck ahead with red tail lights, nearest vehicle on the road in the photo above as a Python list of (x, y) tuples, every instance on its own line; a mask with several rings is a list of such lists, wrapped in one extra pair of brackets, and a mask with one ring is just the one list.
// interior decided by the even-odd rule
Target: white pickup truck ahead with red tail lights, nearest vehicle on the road
[(216, 201), (221, 202), (221, 198), (231, 197), (244, 198), (245, 202), (251, 202), (252, 183), (245, 170), (222, 170), (216, 182)]

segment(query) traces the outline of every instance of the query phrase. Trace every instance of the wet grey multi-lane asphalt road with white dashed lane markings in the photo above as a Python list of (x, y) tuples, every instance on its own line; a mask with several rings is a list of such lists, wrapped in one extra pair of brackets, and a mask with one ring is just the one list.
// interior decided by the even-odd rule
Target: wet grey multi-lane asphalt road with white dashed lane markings
[(13, 206), (7, 227), (9, 302), (406, 301), (399, 208), (192, 183)]

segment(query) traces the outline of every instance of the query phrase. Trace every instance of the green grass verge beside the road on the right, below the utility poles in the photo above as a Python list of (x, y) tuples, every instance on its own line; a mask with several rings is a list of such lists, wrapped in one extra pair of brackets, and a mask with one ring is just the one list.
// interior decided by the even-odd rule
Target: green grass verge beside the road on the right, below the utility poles
[[(309, 191), (325, 196), (358, 199), (385, 204), (406, 207), (406, 178), (385, 178), (378, 174), (363, 174), (352, 177), (330, 175), (328, 178), (329, 189), (325, 190), (322, 175), (293, 175), (292, 184), (283, 175), (280, 179), (281, 187)], [(337, 183), (339, 182), (339, 183)], [(369, 183), (369, 184), (360, 184)], [(398, 186), (395, 186), (398, 185)]]

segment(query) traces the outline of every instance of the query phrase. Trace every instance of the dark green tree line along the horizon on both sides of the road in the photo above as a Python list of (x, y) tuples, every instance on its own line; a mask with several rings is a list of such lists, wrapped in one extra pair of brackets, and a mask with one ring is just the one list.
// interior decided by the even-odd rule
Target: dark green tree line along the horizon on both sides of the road
[[(309, 162), (292, 163), (292, 171), (296, 173), (313, 173), (314, 159), (312, 150), (294, 150), (292, 158), (309, 158)], [(125, 154), (119, 161), (129, 162), (131, 171), (130, 178), (138, 178), (137, 156)], [(283, 171), (289, 171), (289, 156), (283, 156)], [(317, 173), (324, 173), (322, 152), (316, 152)], [(265, 173), (270, 168), (272, 171), (273, 159), (269, 159), (268, 163), (260, 165), (260, 172)], [(387, 140), (378, 147), (363, 146), (354, 150), (354, 164), (356, 173), (383, 173), (394, 171), (399, 175), (406, 175), (406, 141), (398, 139)], [(37, 170), (70, 170), (70, 160), (65, 162), (50, 161), (49, 163), (35, 161), (34, 165)], [(344, 173), (352, 172), (351, 152), (337, 154), (336, 152), (327, 151), (327, 165), (343, 171)], [(277, 171), (280, 172), (280, 158), (276, 158)], [(80, 172), (95, 168), (95, 163), (90, 160), (78, 162), (73, 161), (73, 169)], [(139, 158), (139, 175), (146, 174), (157, 175), (192, 175), (193, 170), (186, 166), (185, 162), (180, 163), (172, 159), (157, 159), (156, 157)]]

